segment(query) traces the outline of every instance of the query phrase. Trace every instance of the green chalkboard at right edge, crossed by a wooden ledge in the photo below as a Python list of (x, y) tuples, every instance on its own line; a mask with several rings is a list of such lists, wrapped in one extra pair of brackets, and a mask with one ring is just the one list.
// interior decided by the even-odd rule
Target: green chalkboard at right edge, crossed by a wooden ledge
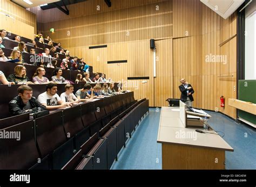
[[(238, 81), (238, 99), (256, 104), (256, 80)], [(256, 115), (239, 110), (238, 116), (256, 125)]]

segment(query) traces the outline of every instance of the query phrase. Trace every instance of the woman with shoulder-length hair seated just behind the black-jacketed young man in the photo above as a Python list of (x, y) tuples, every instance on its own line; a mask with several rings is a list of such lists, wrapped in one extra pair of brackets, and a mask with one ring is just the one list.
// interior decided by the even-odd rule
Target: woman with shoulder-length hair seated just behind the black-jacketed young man
[(14, 68), (15, 74), (8, 76), (7, 80), (9, 82), (15, 82), (15, 84), (33, 84), (29, 81), (29, 78), (26, 76), (26, 68), (23, 65), (17, 65)]

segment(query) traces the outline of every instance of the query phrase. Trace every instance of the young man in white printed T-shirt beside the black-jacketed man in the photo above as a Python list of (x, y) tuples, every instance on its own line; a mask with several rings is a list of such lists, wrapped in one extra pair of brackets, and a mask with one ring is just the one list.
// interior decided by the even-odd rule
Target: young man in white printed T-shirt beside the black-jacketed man
[(46, 106), (47, 110), (63, 109), (72, 106), (71, 103), (63, 102), (57, 94), (57, 84), (49, 83), (46, 91), (38, 96), (39, 103)]

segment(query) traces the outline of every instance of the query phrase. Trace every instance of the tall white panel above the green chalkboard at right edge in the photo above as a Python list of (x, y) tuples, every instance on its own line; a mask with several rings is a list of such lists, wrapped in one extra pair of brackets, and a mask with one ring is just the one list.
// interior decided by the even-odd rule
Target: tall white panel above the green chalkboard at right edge
[(256, 80), (256, 0), (245, 9), (245, 80)]

